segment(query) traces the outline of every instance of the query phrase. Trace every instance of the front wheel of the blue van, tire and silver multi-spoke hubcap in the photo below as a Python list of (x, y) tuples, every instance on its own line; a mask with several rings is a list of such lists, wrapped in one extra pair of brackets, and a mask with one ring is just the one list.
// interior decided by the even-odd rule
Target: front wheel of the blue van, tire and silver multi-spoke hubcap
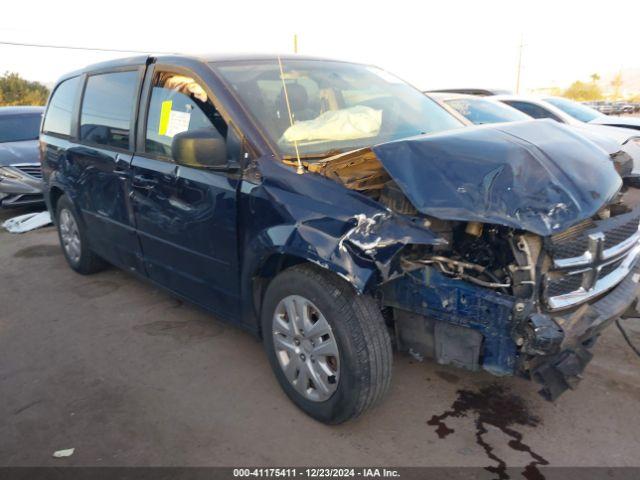
[(276, 378), (300, 409), (338, 424), (377, 404), (391, 383), (391, 340), (376, 302), (314, 265), (280, 273), (262, 308)]

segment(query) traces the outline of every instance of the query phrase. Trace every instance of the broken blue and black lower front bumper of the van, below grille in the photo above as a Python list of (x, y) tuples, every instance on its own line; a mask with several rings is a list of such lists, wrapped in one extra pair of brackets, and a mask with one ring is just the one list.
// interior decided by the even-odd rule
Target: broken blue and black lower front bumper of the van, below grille
[[(639, 282), (636, 259), (628, 275), (600, 298), (548, 314), (529, 312), (530, 306), (523, 308), (514, 297), (431, 267), (406, 272), (380, 290), (383, 305), (400, 312), (396, 331), (401, 350), (433, 356), (442, 364), (477, 365), (494, 375), (521, 375), (542, 384), (541, 395), (554, 400), (578, 384), (592, 357), (589, 348), (602, 330), (636, 307)], [(438, 328), (443, 324), (448, 328)], [(474, 343), (478, 333), (481, 339)], [(475, 361), (468, 358), (470, 350), (478, 352)]]

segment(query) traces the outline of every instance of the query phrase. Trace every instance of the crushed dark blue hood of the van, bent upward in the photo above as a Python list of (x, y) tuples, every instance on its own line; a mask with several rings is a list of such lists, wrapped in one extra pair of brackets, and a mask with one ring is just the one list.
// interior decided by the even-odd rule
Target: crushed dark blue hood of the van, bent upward
[(552, 120), (421, 135), (373, 151), (421, 213), (542, 236), (594, 215), (622, 185), (603, 150)]

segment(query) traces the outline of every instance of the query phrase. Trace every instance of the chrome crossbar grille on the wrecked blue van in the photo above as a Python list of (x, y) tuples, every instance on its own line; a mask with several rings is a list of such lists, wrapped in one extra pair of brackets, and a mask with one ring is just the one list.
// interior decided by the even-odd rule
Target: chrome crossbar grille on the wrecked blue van
[(619, 283), (640, 254), (639, 228), (640, 210), (634, 210), (550, 237), (546, 248), (553, 266), (543, 278), (549, 308), (571, 307)]

